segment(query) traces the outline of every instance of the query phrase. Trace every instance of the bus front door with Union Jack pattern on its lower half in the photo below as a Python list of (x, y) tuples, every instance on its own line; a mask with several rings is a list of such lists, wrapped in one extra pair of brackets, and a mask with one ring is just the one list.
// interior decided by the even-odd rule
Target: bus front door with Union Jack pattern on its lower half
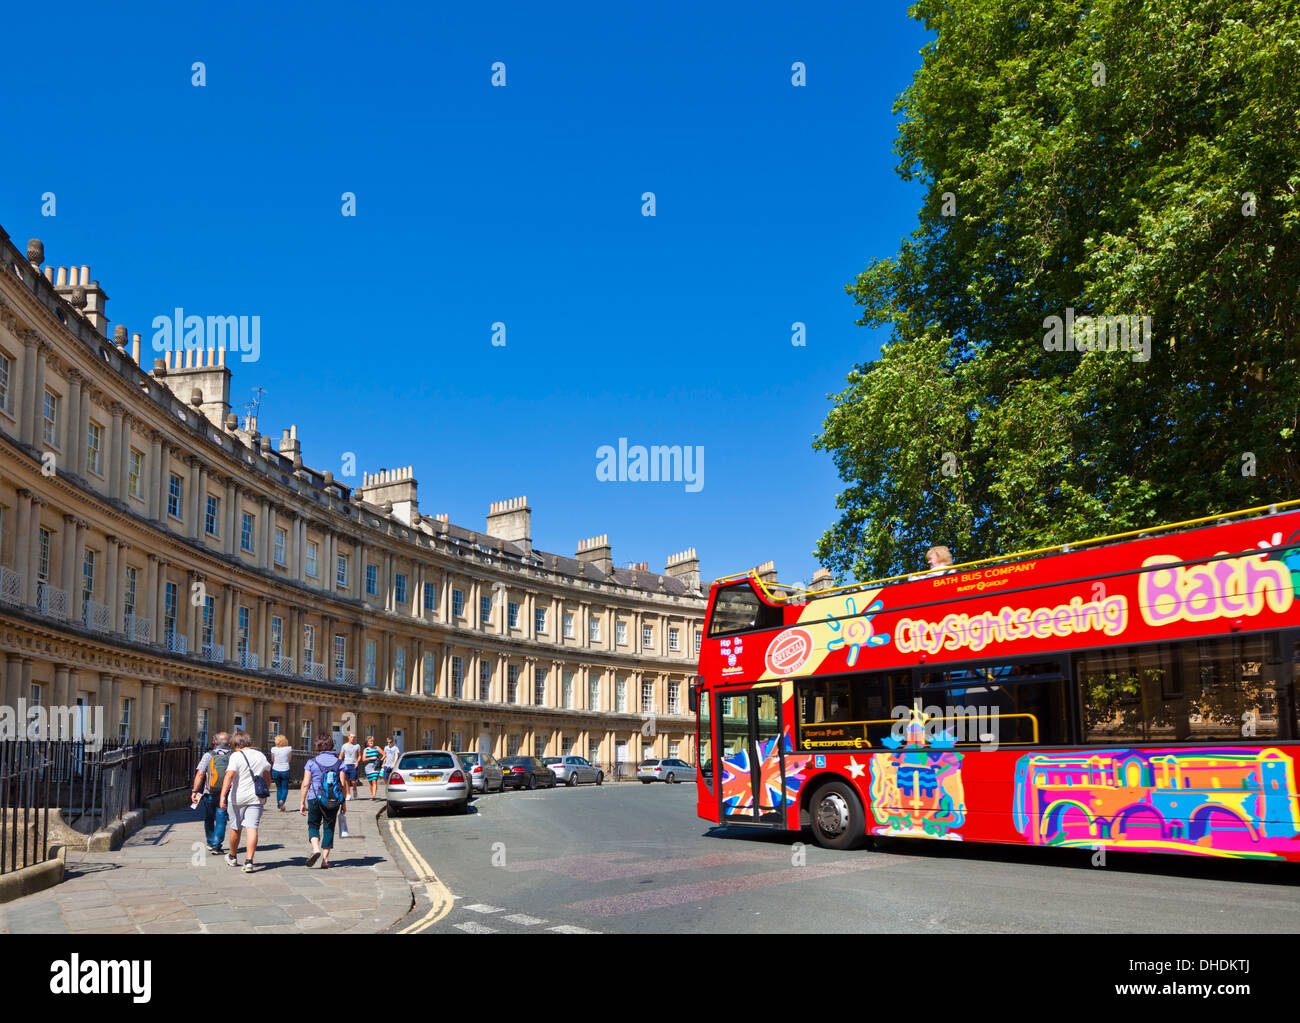
[(718, 790), (728, 824), (784, 827), (785, 750), (781, 690), (751, 689), (716, 697), (719, 719)]

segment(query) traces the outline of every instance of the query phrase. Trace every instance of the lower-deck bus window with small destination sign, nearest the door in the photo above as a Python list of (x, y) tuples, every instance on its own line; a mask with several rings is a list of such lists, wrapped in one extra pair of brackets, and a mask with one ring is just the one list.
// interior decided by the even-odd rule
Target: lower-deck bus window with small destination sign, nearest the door
[(796, 694), (801, 749), (885, 749), (884, 738), (911, 707), (911, 672), (805, 679)]

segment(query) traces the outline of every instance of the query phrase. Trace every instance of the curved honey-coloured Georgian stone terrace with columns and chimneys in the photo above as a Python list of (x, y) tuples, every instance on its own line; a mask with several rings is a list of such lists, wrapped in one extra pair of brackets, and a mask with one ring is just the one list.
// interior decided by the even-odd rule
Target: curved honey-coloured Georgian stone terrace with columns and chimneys
[(693, 550), (615, 568), (607, 537), (534, 550), (525, 498), (471, 530), (422, 516), (410, 469), (350, 487), (296, 428), (237, 424), (225, 348), (146, 342), (147, 372), (86, 266), (0, 248), (5, 706), (103, 707), (109, 741), (355, 721), (473, 749), (488, 723), (498, 755), (694, 758)]

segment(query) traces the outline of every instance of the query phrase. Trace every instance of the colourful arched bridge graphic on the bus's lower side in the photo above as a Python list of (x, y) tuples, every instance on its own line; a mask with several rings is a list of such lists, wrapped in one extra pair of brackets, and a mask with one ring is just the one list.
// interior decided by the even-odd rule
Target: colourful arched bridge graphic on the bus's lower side
[(1297, 849), (1295, 764), (1278, 749), (1028, 754), (1015, 827), (1031, 845), (1278, 858)]

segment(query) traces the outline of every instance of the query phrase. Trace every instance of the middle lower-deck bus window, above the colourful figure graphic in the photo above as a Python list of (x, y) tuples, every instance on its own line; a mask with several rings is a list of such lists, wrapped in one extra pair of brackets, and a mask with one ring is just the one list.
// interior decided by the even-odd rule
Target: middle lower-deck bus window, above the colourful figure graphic
[(1054, 660), (930, 672), (920, 697), (926, 707), (941, 708), (936, 716), (958, 746), (1070, 742), (1065, 676)]

